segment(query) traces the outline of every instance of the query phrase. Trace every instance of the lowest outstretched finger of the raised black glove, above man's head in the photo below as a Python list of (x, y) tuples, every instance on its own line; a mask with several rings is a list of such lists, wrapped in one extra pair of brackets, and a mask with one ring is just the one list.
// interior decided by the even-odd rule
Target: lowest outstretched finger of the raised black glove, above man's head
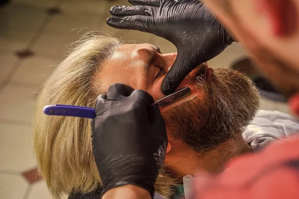
[(125, 30), (139, 30), (142, 32), (148, 32), (147, 24), (150, 22), (150, 16), (133, 15), (125, 17), (109, 17), (106, 22), (113, 28), (125, 29)]

